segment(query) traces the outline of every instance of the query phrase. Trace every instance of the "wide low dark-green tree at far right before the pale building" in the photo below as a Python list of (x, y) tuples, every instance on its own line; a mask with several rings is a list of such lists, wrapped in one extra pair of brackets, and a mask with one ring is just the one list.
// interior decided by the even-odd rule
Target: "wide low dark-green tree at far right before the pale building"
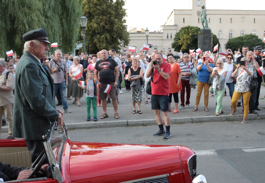
[(259, 39), (257, 35), (246, 34), (244, 36), (239, 36), (235, 38), (231, 38), (226, 43), (226, 48), (230, 48), (231, 50), (242, 49), (244, 45), (249, 46), (249, 49), (253, 51), (253, 47), (255, 46), (265, 46), (263, 40)]

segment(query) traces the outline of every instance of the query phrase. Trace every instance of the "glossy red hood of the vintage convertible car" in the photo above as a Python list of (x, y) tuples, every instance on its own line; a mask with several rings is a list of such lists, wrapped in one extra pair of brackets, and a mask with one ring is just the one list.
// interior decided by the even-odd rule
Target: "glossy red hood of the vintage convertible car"
[(183, 182), (178, 146), (72, 142), (68, 152), (72, 182), (124, 182), (165, 174)]

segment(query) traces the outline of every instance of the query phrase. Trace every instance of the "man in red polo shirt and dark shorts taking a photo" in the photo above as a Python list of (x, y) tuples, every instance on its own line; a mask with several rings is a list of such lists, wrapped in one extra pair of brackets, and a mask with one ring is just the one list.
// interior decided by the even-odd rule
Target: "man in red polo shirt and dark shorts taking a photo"
[[(152, 69), (154, 68), (153, 82), (151, 82), (151, 108), (155, 112), (156, 122), (159, 126), (159, 131), (155, 133), (154, 136), (164, 135), (164, 138), (170, 138), (170, 116), (168, 113), (168, 104), (171, 66), (169, 63), (163, 62), (163, 56), (160, 53), (155, 54), (155, 60), (158, 61), (159, 64), (154, 65), (153, 61), (151, 61), (151, 67), (146, 71), (146, 77), (150, 77), (152, 75)], [(164, 115), (166, 131), (163, 127), (160, 110)]]

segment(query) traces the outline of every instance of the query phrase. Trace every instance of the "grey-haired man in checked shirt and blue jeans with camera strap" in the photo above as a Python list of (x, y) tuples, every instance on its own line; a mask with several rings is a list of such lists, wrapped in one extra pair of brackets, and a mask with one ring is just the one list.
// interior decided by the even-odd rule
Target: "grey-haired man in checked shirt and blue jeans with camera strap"
[(66, 96), (66, 87), (68, 85), (68, 74), (67, 66), (64, 60), (61, 60), (62, 51), (57, 49), (55, 50), (55, 59), (50, 61), (49, 67), (53, 69), (51, 76), (53, 77), (53, 93), (57, 94), (57, 91), (60, 91), (62, 103), (63, 103), (63, 112), (71, 113), (68, 110), (67, 96)]

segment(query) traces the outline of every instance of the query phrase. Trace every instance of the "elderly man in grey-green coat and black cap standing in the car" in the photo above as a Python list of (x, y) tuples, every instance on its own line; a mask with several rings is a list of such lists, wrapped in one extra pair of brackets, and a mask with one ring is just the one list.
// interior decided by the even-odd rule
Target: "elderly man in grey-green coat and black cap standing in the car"
[(25, 138), (34, 162), (43, 150), (42, 136), (49, 132), (57, 118), (63, 125), (63, 112), (56, 110), (53, 78), (40, 63), (49, 51), (45, 29), (23, 35), (24, 54), (16, 67), (13, 136)]

